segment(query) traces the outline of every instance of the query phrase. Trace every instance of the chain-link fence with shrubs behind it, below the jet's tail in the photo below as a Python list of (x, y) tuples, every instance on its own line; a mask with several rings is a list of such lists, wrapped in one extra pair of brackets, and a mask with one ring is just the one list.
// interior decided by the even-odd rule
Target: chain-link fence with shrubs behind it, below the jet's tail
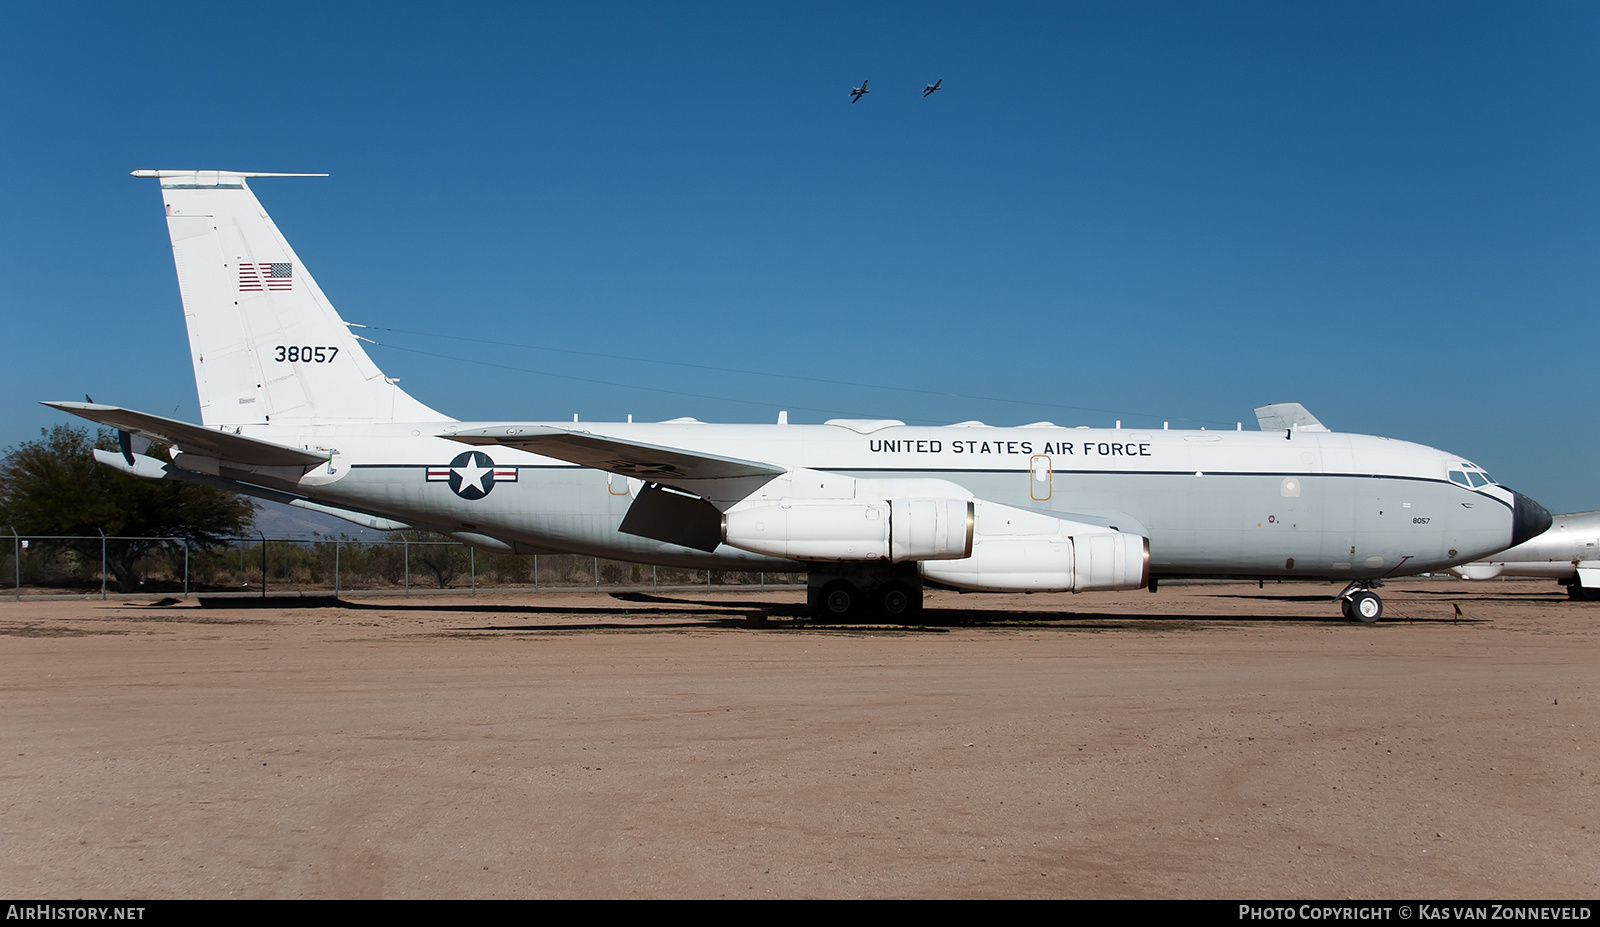
[[(6, 543), (10, 541), (10, 543)], [(0, 535), (0, 583), (24, 596), (424, 594), (805, 584), (805, 573), (685, 570), (581, 554), (494, 554), (437, 535), (182, 538)]]

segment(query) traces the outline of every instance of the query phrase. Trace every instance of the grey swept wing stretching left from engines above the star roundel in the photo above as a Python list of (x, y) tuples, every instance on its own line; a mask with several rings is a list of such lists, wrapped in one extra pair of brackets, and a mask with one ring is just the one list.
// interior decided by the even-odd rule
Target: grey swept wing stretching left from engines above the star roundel
[(549, 424), (496, 424), (462, 429), (440, 437), (470, 445), (512, 447), (650, 482), (776, 477), (789, 472), (789, 468), (776, 464), (658, 447)]

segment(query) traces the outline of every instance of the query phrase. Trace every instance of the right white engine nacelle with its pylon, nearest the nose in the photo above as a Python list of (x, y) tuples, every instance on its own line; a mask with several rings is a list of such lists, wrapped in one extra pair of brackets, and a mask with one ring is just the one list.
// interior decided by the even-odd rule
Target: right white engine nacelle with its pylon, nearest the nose
[(1150, 581), (1144, 535), (976, 503), (973, 554), (920, 564), (923, 578), (981, 592), (1139, 589)]

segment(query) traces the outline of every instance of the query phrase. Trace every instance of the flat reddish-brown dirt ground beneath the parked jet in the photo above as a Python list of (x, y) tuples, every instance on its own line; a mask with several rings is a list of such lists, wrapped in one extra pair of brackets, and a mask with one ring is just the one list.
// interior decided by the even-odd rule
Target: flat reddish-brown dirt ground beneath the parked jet
[(0, 892), (1600, 897), (1600, 602), (1336, 589), (0, 602)]

